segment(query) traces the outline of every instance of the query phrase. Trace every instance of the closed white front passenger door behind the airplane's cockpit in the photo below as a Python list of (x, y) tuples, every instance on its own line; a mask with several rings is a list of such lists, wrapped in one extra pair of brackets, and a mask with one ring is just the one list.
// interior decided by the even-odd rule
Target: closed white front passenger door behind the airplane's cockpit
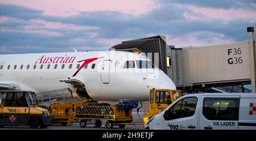
[(104, 84), (110, 83), (110, 66), (111, 66), (112, 60), (107, 59), (102, 62), (101, 67), (101, 82)]

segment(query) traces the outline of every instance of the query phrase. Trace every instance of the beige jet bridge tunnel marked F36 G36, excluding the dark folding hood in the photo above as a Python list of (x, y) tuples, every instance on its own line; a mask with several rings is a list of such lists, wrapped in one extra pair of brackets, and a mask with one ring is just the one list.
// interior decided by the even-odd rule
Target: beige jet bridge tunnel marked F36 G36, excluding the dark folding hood
[[(255, 83), (251, 83), (255, 82), (253, 31), (249, 28), (248, 42), (182, 49), (169, 46), (167, 55), (171, 56), (172, 67), (168, 69), (168, 76), (178, 88), (186, 92), (202, 89), (205, 92), (205, 88), (210, 87), (236, 92), (237, 86), (241, 86), (242, 92), (249, 91), (243, 86), (252, 84), (255, 87)], [(231, 90), (228, 90), (229, 86)]]

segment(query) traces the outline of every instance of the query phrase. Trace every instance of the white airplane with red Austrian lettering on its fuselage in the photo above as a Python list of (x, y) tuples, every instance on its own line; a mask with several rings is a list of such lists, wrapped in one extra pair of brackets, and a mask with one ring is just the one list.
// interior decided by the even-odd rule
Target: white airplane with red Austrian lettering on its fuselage
[(71, 88), (98, 101), (147, 101), (150, 89), (176, 89), (144, 55), (71, 52), (0, 55), (0, 89), (47, 92)]

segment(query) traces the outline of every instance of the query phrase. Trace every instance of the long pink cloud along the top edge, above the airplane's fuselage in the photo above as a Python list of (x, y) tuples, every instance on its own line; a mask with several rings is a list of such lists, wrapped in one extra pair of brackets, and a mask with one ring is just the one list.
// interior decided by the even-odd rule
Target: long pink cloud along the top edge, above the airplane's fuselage
[(46, 15), (70, 16), (79, 14), (80, 11), (122, 11), (129, 14), (142, 14), (158, 7), (154, 0), (2, 0), (0, 3), (22, 5), (39, 10), (44, 10)]

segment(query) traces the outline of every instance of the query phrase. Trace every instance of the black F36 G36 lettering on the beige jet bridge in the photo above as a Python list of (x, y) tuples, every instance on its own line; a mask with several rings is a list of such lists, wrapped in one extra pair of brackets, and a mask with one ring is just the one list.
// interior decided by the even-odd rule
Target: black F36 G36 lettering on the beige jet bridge
[(230, 57), (228, 58), (228, 63), (230, 65), (232, 64), (237, 64), (237, 63), (242, 63), (242, 57), (240, 56), (242, 53), (241, 48), (233, 48), (233, 49), (228, 49), (228, 55), (236, 55), (236, 57)]

